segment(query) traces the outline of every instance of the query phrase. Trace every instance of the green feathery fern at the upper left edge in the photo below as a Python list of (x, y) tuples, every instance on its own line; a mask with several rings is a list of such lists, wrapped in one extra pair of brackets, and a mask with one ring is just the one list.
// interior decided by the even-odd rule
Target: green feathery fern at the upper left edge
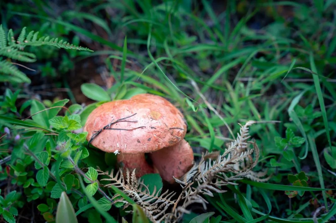
[[(66, 41), (58, 40), (57, 38), (50, 38), (49, 36), (38, 39), (38, 33), (39, 32), (31, 31), (27, 35), (26, 27), (24, 27), (18, 38), (15, 40), (13, 30), (10, 29), (8, 34), (6, 34), (2, 25), (0, 25), (0, 56), (6, 57), (7, 59), (32, 63), (36, 61), (36, 55), (34, 53), (23, 51), (25, 46), (49, 45), (64, 49), (92, 51), (89, 48), (75, 46)], [(0, 79), (2, 82), (11, 81), (18, 83), (30, 83), (30, 79), (26, 76), (26, 74), (19, 71), (10, 62), (3, 60), (2, 57), (0, 57), (0, 72), (2, 73)]]

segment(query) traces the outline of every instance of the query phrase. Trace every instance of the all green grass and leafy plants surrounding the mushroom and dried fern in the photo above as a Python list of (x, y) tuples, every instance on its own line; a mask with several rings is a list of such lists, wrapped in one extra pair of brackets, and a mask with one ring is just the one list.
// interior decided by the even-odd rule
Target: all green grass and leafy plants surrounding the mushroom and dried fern
[[(223, 154), (238, 123), (256, 122), (253, 174), (205, 195), (206, 209), (189, 206), (179, 221), (334, 221), (335, 5), (1, 2), (2, 218), (148, 221), (127, 194), (103, 187), (98, 172), (114, 169), (115, 156), (78, 131), (98, 105), (148, 92), (182, 111), (196, 161)], [(143, 180), (163, 186), (157, 175)], [(114, 194), (131, 205), (112, 205)]]

